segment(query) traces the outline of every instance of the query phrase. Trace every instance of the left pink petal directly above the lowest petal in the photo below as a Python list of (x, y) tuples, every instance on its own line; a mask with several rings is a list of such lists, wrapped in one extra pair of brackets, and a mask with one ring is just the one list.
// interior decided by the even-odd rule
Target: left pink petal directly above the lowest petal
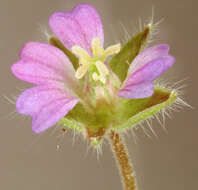
[(27, 43), (21, 50), (20, 58), (11, 70), (21, 80), (34, 84), (75, 81), (75, 71), (68, 58), (51, 45)]

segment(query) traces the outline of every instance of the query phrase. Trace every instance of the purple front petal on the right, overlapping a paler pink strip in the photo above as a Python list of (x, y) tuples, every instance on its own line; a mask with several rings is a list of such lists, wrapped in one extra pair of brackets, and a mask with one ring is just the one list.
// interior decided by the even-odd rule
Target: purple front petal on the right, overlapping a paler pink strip
[(118, 96), (124, 98), (145, 98), (153, 94), (152, 81), (174, 64), (174, 57), (164, 56), (145, 64), (132, 73), (124, 82)]

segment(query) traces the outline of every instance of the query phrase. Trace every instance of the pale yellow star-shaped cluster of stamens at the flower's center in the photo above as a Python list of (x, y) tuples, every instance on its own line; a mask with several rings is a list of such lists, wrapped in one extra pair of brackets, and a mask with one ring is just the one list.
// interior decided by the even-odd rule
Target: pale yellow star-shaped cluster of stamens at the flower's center
[(93, 38), (91, 45), (92, 55), (89, 55), (86, 50), (80, 46), (76, 45), (72, 47), (72, 52), (79, 57), (80, 64), (75, 76), (77, 79), (81, 79), (89, 71), (94, 81), (100, 81), (105, 84), (109, 70), (104, 64), (104, 61), (108, 56), (120, 51), (120, 44), (109, 46), (104, 50), (100, 39), (96, 37)]

